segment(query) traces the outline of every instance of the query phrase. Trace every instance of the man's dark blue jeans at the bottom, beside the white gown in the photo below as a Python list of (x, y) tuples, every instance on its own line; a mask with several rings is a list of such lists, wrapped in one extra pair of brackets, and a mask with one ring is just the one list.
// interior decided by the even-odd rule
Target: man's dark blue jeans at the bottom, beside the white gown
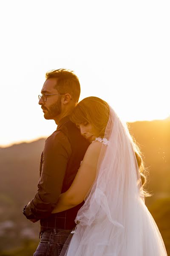
[(41, 235), (40, 243), (33, 256), (59, 256), (72, 230), (46, 230)]

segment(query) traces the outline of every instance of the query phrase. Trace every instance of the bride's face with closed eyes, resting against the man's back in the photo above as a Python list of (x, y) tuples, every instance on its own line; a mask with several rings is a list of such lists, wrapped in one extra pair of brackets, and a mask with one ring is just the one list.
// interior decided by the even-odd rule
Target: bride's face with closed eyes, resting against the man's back
[(89, 122), (77, 123), (76, 126), (79, 128), (82, 136), (90, 143), (94, 141), (96, 137), (99, 137), (99, 130)]

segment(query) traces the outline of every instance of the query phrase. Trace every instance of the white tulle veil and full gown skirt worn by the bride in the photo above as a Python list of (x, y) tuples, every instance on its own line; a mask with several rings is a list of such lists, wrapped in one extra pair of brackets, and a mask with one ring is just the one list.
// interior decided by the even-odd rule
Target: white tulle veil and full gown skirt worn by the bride
[(144, 204), (133, 140), (111, 107), (105, 138), (96, 179), (75, 219), (76, 233), (60, 255), (167, 256)]

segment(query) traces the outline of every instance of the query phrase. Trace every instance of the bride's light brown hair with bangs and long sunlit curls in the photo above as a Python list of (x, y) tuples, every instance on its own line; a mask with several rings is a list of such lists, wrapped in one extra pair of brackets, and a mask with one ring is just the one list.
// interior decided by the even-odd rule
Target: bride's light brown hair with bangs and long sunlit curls
[[(91, 123), (91, 125), (93, 125), (99, 131), (99, 136), (104, 137), (105, 128), (109, 120), (109, 114), (110, 108), (108, 103), (98, 97), (91, 96), (83, 99), (78, 103), (78, 105), (74, 108), (74, 111), (71, 113), (70, 119), (74, 123)], [(146, 170), (144, 168), (142, 153), (133, 137), (132, 142), (136, 160), (139, 166), (143, 189), (147, 181), (145, 175)], [(149, 194), (144, 191), (144, 196), (149, 196)]]

